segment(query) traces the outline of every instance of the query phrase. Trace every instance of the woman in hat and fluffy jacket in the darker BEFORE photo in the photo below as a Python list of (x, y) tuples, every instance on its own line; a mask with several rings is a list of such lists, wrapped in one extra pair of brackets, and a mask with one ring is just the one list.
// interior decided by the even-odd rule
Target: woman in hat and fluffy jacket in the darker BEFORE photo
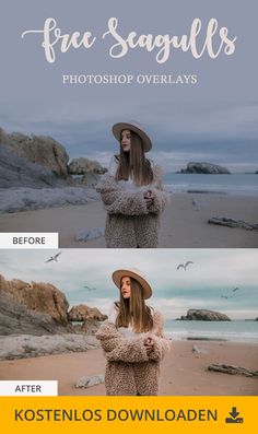
[(119, 122), (113, 132), (120, 143), (96, 190), (106, 207), (107, 247), (157, 247), (160, 214), (168, 200), (161, 169), (145, 157), (151, 139), (136, 124)]

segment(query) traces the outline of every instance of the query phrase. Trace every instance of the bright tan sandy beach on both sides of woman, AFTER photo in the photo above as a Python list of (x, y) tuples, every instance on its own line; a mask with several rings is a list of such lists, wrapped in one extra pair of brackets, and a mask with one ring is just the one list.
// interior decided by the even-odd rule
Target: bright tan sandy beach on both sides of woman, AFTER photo
[[(197, 345), (199, 354), (192, 353)], [(258, 344), (216, 341), (177, 341), (161, 365), (160, 395), (258, 395), (258, 378), (208, 372), (212, 363), (257, 370)], [(0, 362), (0, 379), (58, 379), (59, 395), (105, 395), (103, 384), (75, 388), (82, 376), (105, 372), (101, 349)]]

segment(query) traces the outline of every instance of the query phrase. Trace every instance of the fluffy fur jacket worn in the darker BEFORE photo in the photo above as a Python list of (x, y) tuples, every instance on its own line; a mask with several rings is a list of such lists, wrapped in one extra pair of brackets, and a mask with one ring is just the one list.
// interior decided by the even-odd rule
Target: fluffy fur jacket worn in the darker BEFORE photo
[(161, 171), (154, 172), (155, 186), (146, 187), (154, 196), (151, 207), (146, 207), (142, 189), (125, 190), (110, 174), (103, 175), (96, 186), (106, 207), (106, 246), (109, 248), (157, 247), (160, 214), (169, 201), (161, 183)]

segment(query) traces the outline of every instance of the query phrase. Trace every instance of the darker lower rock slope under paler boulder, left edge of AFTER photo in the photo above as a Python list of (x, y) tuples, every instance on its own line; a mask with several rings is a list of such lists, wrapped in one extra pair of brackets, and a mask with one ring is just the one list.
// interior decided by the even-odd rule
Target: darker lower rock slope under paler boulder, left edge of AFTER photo
[[(56, 335), (72, 332), (71, 325), (57, 322), (50, 315), (28, 309), (0, 291), (0, 335)], [(1, 345), (0, 345), (1, 347)], [(1, 350), (1, 349), (0, 349)]]

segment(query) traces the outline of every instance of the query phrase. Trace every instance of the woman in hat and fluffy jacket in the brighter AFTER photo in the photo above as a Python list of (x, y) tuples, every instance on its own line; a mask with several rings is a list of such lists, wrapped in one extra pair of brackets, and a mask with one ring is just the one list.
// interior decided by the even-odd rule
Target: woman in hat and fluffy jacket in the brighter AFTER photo
[(113, 280), (120, 302), (113, 304), (96, 338), (107, 359), (107, 395), (157, 395), (160, 362), (169, 349), (163, 337), (163, 319), (145, 305), (152, 290), (138, 270), (117, 270)]

